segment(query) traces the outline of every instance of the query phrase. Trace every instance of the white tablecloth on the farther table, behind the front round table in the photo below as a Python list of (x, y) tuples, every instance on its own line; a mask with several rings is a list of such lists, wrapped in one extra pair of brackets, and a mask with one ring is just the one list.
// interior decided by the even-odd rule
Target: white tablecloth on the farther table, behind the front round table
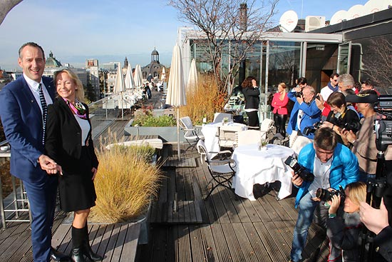
[[(217, 152), (219, 151), (219, 138), (218, 138), (218, 131), (220, 126), (222, 126), (222, 122), (219, 123), (210, 123), (205, 124), (202, 126), (202, 133), (204, 135), (204, 143), (207, 151), (209, 152)], [(227, 126), (243, 126), (242, 130), (246, 130), (247, 126), (244, 124), (229, 122)], [(216, 156), (217, 153), (210, 153), (210, 158)]]

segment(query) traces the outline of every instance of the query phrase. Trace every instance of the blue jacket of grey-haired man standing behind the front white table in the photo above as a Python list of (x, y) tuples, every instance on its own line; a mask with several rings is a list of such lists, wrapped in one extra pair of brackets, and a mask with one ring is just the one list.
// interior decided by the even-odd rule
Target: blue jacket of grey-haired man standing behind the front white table
[[(321, 111), (317, 107), (316, 101), (311, 101), (309, 105), (306, 103), (299, 104), (298, 101), (296, 101), (295, 92), (289, 92), (287, 96), (295, 103), (292, 109), (292, 114), (290, 114), (289, 124), (287, 124), (287, 133), (292, 134), (293, 130), (297, 130), (296, 119), (298, 117), (299, 109), (304, 111), (300, 126), (301, 133), (304, 133), (304, 129), (306, 128), (306, 126), (313, 126), (321, 120)], [(309, 134), (309, 136), (306, 137), (313, 139), (314, 133), (311, 133)]]

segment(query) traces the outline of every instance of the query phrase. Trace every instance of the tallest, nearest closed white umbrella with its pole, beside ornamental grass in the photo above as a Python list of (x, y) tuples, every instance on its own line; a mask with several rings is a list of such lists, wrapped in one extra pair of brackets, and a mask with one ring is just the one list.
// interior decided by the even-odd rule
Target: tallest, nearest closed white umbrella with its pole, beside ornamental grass
[(180, 106), (185, 106), (187, 104), (187, 98), (185, 96), (185, 82), (184, 71), (182, 70), (181, 50), (178, 44), (176, 44), (173, 48), (166, 104), (177, 107), (177, 151), (178, 159), (180, 160)]

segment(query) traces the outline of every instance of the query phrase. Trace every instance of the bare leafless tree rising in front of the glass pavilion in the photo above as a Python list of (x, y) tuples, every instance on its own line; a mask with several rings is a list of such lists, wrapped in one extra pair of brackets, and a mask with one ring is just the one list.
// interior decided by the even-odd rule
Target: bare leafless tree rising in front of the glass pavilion
[[(205, 51), (210, 56), (215, 80), (220, 91), (226, 91), (236, 76), (239, 64), (270, 26), (279, 0), (170, 0), (179, 12), (179, 19), (201, 31)], [(222, 54), (229, 50), (229, 69), (222, 69)]]

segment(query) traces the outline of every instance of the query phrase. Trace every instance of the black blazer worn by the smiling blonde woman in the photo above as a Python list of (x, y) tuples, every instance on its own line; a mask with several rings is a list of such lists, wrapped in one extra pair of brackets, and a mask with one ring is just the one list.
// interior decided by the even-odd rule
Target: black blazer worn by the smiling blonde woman
[(93, 167), (98, 168), (98, 158), (94, 152), (93, 139), (91, 138), (91, 121), (88, 117), (88, 106), (86, 104), (84, 106), (87, 109), (87, 120), (90, 124), (87, 141), (91, 165), (88, 166), (86, 166), (86, 161), (81, 161), (81, 127), (66, 101), (58, 98), (53, 101), (53, 104), (48, 106), (45, 149), (48, 156), (61, 165), (63, 171), (80, 173), (87, 171), (86, 168), (89, 168), (88, 171), (91, 171)]

